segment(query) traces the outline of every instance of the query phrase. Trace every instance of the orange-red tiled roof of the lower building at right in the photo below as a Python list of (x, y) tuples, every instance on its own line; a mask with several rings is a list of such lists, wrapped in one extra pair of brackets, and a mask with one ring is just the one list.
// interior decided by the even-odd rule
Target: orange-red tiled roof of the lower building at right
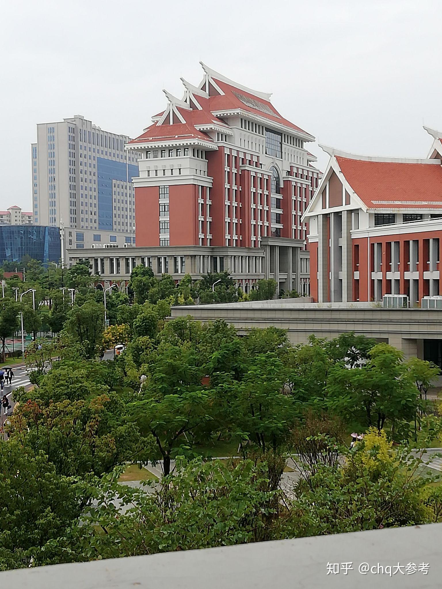
[(336, 160), (345, 180), (369, 209), (442, 208), (442, 166), (340, 155)]

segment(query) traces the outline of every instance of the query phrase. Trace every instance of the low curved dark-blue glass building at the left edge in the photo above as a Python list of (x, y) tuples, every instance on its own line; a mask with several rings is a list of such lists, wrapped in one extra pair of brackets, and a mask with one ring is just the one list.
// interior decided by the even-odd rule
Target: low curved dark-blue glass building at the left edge
[(0, 225), (0, 264), (19, 262), (26, 255), (43, 264), (58, 263), (61, 258), (60, 229), (39, 225)]

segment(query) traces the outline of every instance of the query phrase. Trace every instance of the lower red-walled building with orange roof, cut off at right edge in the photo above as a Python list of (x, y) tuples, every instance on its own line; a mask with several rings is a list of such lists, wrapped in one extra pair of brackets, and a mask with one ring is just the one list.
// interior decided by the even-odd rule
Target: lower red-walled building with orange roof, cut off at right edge
[(324, 147), (330, 160), (304, 214), (311, 296), (318, 302), (404, 304), (442, 296), (442, 133), (422, 160)]

